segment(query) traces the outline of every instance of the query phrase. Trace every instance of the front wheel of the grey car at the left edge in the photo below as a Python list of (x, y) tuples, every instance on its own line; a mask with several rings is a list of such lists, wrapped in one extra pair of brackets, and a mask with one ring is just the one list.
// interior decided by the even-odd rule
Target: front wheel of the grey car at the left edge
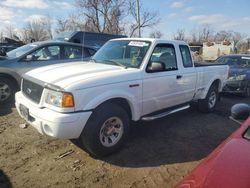
[(0, 104), (12, 102), (16, 91), (15, 83), (11, 79), (0, 77)]

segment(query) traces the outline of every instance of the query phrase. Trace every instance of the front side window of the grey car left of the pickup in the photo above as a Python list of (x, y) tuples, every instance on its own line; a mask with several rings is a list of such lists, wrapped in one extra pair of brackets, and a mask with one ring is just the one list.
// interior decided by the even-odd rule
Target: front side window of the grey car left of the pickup
[(58, 60), (60, 59), (60, 46), (45, 46), (30, 55), (33, 61)]

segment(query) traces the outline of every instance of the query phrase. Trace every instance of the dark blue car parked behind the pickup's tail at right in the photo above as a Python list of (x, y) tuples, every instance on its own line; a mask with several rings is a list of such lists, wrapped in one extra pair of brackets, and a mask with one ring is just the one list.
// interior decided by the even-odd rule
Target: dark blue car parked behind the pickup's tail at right
[(229, 65), (229, 77), (224, 92), (239, 93), (250, 96), (250, 55), (225, 55), (219, 57), (216, 63)]

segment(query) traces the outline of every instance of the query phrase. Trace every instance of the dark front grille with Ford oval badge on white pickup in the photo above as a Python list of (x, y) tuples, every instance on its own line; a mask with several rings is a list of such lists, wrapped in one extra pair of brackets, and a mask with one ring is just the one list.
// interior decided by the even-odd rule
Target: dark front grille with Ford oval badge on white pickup
[(29, 98), (33, 102), (39, 103), (43, 92), (43, 86), (38, 85), (29, 80), (23, 79), (22, 92), (27, 98)]

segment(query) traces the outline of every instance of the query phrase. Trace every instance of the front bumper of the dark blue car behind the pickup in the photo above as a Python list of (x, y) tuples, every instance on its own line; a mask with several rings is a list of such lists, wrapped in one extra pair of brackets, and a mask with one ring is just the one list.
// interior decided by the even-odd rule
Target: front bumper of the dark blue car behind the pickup
[(246, 80), (228, 80), (223, 88), (223, 92), (243, 94), (246, 91), (246, 87)]

